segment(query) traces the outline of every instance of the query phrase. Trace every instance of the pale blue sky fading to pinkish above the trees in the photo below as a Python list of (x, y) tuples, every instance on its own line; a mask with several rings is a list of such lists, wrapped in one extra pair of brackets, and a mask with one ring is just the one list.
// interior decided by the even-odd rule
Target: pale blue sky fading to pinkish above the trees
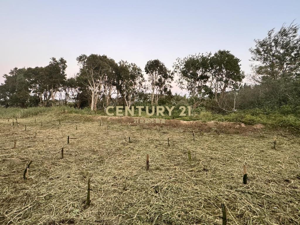
[[(300, 1), (34, 1), (0, 0), (0, 83), (14, 67), (107, 55), (143, 70), (150, 59), (172, 69), (176, 58), (219, 49), (241, 59), (250, 73), (250, 47), (268, 30), (300, 23)], [(173, 92), (182, 91), (173, 87)]]

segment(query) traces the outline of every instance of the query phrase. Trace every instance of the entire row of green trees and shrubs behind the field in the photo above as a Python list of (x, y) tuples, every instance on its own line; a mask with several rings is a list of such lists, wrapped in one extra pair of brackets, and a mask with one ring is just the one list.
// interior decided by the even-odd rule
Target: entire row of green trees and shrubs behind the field
[[(51, 58), (49, 65), (14, 68), (4, 74), (0, 85), (0, 104), (5, 107), (34, 107), (73, 104), (91, 110), (107, 106), (134, 104), (192, 105), (216, 112), (239, 109), (286, 107), (300, 103), (299, 26), (283, 25), (278, 32), (268, 31), (250, 48), (250, 84), (240, 59), (230, 51), (199, 53), (177, 58), (173, 70), (158, 59), (149, 60), (143, 70), (135, 63), (116, 62), (106, 55), (80, 55), (79, 72), (67, 78), (64, 58)], [(188, 92), (188, 97), (173, 95), (171, 83)]]

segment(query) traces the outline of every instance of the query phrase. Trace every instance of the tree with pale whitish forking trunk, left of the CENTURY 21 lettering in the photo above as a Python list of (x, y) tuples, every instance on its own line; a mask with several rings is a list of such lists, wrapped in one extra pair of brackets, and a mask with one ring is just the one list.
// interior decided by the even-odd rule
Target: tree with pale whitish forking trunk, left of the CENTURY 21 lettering
[(91, 110), (96, 111), (99, 98), (104, 95), (104, 79), (107, 79), (113, 70), (111, 67), (112, 59), (106, 55), (96, 54), (80, 55), (76, 59), (80, 66), (80, 79), (90, 95)]

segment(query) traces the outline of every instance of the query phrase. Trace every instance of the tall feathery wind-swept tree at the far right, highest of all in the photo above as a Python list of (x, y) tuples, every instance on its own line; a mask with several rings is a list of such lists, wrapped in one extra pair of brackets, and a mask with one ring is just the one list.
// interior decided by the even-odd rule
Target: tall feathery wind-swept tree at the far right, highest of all
[(271, 79), (295, 77), (300, 73), (300, 35), (299, 26), (291, 23), (278, 32), (268, 31), (264, 39), (255, 39), (255, 48), (250, 48), (253, 70), (258, 75)]

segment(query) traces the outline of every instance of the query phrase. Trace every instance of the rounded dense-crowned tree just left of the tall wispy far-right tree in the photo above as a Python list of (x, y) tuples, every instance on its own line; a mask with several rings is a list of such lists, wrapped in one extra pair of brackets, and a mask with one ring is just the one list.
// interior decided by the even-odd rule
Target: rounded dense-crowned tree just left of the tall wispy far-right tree
[(228, 110), (225, 100), (226, 91), (237, 90), (244, 79), (244, 71), (241, 71), (240, 59), (236, 58), (230, 51), (219, 50), (211, 57), (211, 87), (214, 91), (214, 98), (222, 110), (236, 111), (235, 94), (234, 104)]

